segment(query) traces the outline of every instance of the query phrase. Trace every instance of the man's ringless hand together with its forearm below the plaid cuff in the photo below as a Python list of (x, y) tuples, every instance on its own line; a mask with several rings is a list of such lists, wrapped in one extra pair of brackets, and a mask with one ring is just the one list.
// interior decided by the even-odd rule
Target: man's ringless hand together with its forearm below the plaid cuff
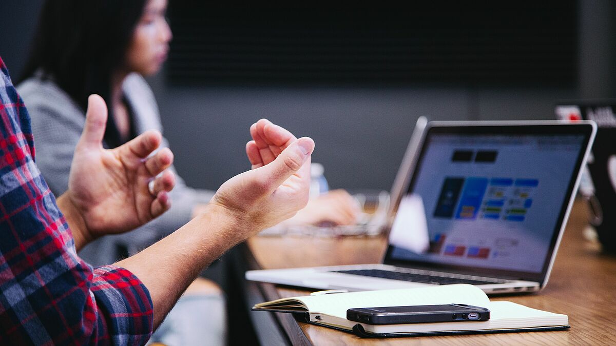
[(306, 206), (312, 139), (295, 139), (291, 132), (266, 120), (253, 128), (254, 141), (246, 145), (253, 169), (223, 183), (195, 219), (117, 264), (148, 288), (155, 327), (206, 265)]

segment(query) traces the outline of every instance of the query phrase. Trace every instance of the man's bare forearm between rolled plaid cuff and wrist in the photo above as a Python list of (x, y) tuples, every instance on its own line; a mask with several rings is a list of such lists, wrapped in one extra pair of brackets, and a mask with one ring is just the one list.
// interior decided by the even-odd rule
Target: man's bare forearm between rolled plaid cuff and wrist
[(238, 233), (238, 223), (210, 204), (184, 227), (116, 264), (134, 273), (150, 291), (154, 328), (198, 273), (243, 239)]

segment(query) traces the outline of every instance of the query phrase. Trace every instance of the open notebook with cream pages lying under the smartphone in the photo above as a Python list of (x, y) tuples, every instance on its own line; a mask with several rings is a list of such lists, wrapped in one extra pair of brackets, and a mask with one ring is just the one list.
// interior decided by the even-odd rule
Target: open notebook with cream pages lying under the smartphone
[[(490, 310), (491, 317), (488, 321), (386, 325), (358, 323), (346, 319), (346, 310), (349, 308), (431, 304), (485, 307)], [(253, 310), (304, 313), (309, 323), (354, 331), (363, 337), (554, 331), (570, 328), (567, 315), (537, 310), (513, 302), (490, 302), (481, 289), (469, 284), (283, 298), (254, 305)]]

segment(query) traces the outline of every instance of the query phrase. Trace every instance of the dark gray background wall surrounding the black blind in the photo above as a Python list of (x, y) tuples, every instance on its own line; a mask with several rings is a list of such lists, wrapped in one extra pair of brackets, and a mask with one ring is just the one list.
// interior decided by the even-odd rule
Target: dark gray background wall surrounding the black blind
[[(41, 3), (0, 4), (0, 55), (14, 78), (22, 68)], [(574, 17), (562, 18), (562, 25), (575, 26), (577, 36), (571, 82), (529, 79), (482, 84), (471, 78), (468, 82), (263, 83), (210, 78), (178, 83), (169, 66), (148, 81), (158, 99), (164, 135), (176, 153), (177, 169), (192, 186), (216, 189), (247, 169), (248, 127), (268, 118), (315, 139), (314, 161), (325, 165), (331, 187), (388, 190), (419, 116), (553, 119), (556, 100), (615, 95), (616, 5), (609, 0), (573, 4)], [(559, 20), (558, 11), (541, 15)], [(524, 18), (520, 21), (524, 25)], [(177, 20), (171, 26), (185, 30)]]

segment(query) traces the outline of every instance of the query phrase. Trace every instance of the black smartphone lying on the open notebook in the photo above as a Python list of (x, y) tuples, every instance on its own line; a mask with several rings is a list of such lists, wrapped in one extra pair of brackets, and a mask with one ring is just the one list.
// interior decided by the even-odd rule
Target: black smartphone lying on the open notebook
[(347, 320), (366, 324), (487, 321), (490, 310), (466, 304), (351, 308)]

